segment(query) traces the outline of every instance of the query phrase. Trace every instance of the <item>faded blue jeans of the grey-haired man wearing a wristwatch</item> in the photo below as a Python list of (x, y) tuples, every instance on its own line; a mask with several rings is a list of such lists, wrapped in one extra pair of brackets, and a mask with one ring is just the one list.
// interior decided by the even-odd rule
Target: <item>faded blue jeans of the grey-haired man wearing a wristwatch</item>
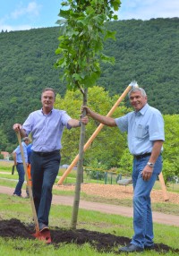
[(159, 156), (155, 163), (153, 174), (149, 181), (144, 181), (141, 171), (147, 165), (149, 157), (133, 159), (133, 229), (132, 244), (141, 248), (153, 244), (153, 221), (150, 205), (150, 192), (162, 170), (162, 157)]

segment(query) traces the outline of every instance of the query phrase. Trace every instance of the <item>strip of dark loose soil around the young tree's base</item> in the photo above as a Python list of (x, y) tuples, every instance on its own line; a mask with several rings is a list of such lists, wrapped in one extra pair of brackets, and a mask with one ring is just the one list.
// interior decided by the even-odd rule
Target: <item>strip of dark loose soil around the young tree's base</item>
[[(35, 239), (32, 235), (31, 225), (23, 224), (20, 220), (12, 218), (9, 220), (0, 221), (0, 236), (11, 239), (23, 238), (23, 239)], [(59, 243), (76, 243), (82, 245), (84, 243), (90, 243), (91, 246), (96, 248), (98, 252), (116, 252), (116, 248), (124, 246), (126, 243), (130, 243), (131, 239), (124, 236), (115, 236), (111, 234), (104, 234), (96, 231), (89, 231), (85, 229), (63, 229), (54, 227), (50, 229), (52, 243), (54, 246)], [(173, 249), (163, 243), (155, 243), (154, 250), (156, 252), (175, 252), (179, 253), (179, 249)]]

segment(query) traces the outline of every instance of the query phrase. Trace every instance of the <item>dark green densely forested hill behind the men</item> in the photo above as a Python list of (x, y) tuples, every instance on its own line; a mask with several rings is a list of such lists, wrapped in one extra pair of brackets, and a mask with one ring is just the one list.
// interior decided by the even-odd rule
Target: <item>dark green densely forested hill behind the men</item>
[[(116, 31), (116, 40), (107, 40), (104, 53), (115, 56), (115, 65), (102, 64), (98, 86), (121, 94), (135, 80), (147, 91), (150, 105), (163, 114), (178, 114), (179, 19), (113, 21), (107, 26)], [(0, 132), (10, 144), (16, 141), (14, 122), (22, 123), (40, 107), (43, 88), (65, 93), (59, 79), (63, 71), (54, 67), (60, 33), (58, 27), (0, 33)]]

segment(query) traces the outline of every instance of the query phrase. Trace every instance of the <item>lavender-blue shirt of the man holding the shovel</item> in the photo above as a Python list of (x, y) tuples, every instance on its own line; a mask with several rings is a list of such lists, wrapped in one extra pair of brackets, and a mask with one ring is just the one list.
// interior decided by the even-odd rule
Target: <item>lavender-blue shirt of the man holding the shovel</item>
[(64, 110), (53, 108), (45, 115), (42, 109), (32, 112), (22, 125), (27, 135), (32, 135), (31, 149), (38, 152), (51, 152), (62, 148), (61, 139), (64, 127), (71, 129), (71, 119)]

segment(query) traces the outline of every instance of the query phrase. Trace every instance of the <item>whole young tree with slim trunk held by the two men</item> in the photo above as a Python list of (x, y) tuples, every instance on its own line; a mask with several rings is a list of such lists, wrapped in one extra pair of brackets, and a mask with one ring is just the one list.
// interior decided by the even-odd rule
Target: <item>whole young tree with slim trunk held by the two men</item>
[[(88, 88), (96, 85), (100, 76), (99, 62), (114, 62), (114, 58), (102, 53), (103, 42), (107, 38), (115, 39), (115, 32), (107, 30), (106, 22), (117, 20), (120, 0), (67, 0), (62, 3), (59, 25), (63, 26), (63, 35), (59, 37), (56, 54), (60, 55), (56, 67), (64, 69), (63, 78), (67, 89), (80, 90), (83, 105), (87, 105)], [(82, 115), (86, 115), (85, 112)], [(82, 182), (83, 146), (85, 127), (81, 125), (78, 171), (75, 197), (72, 209), (72, 228), (76, 228), (80, 191)]]

